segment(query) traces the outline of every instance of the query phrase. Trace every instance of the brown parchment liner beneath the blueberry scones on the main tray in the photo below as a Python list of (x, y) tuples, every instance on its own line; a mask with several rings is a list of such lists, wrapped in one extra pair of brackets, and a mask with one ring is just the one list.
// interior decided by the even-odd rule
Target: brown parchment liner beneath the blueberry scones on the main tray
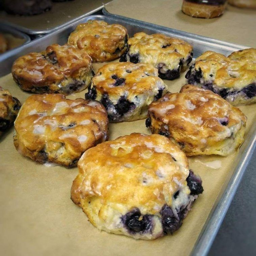
[[(94, 70), (102, 64), (94, 64)], [(164, 80), (169, 91), (178, 92), (185, 73), (174, 81)], [(0, 85), (22, 103), (30, 95), (21, 91), (11, 75)], [(84, 98), (83, 92), (69, 96)], [(255, 122), (255, 104), (241, 106), (248, 117), (247, 132)], [(111, 123), (110, 139), (142, 132), (150, 134), (145, 120)], [(0, 138), (0, 254), (1, 255), (188, 255), (199, 236), (223, 184), (234, 170), (237, 152), (229, 157), (189, 157), (190, 168), (203, 180), (204, 192), (196, 200), (182, 227), (154, 241), (135, 240), (99, 231), (87, 221), (81, 208), (70, 200), (70, 188), (77, 168), (45, 167), (20, 155), (10, 129)], [(221, 160), (220, 169), (200, 162)]]

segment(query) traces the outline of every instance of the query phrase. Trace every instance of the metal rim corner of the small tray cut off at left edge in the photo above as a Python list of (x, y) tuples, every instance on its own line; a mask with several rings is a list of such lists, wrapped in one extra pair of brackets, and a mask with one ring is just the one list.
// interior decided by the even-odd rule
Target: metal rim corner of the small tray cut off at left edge
[(12, 55), (12, 53), (16, 52), (20, 47), (22, 47), (23, 45), (31, 42), (31, 39), (30, 39), (30, 37), (27, 34), (25, 34), (25, 33), (15, 29), (15, 28), (13, 28), (12, 26), (4, 24), (4, 23), (0, 23), (0, 32), (2, 32), (2, 33), (9, 33), (9, 34), (12, 34), (13, 36), (25, 39), (25, 42), (23, 44), (21, 44), (21, 45), (15, 47), (15, 48), (12, 48), (11, 50), (8, 50), (8, 51), (2, 53), (0, 55), (0, 62), (1, 62), (1, 59), (8, 58), (8, 56)]

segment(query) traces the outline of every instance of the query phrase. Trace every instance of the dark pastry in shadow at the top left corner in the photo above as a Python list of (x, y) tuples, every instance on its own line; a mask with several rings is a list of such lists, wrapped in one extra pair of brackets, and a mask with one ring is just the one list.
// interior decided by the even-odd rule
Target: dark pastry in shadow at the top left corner
[(8, 14), (18, 15), (41, 14), (52, 7), (51, 0), (1, 0), (0, 3)]

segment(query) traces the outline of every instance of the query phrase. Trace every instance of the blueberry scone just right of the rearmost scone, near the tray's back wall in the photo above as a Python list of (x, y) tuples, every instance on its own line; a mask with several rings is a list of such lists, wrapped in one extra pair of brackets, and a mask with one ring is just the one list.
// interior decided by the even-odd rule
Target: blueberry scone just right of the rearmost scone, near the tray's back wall
[(173, 80), (185, 71), (193, 56), (193, 48), (183, 40), (163, 34), (134, 34), (120, 61), (144, 62), (158, 69), (162, 79)]

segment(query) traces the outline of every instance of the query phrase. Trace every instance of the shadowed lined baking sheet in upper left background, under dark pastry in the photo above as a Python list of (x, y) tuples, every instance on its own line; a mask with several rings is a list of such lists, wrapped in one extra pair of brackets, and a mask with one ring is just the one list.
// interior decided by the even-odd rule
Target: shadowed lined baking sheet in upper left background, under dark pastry
[(42, 35), (66, 26), (102, 9), (110, 0), (74, 0), (55, 2), (52, 8), (38, 15), (19, 16), (0, 11), (0, 22), (29, 35)]

